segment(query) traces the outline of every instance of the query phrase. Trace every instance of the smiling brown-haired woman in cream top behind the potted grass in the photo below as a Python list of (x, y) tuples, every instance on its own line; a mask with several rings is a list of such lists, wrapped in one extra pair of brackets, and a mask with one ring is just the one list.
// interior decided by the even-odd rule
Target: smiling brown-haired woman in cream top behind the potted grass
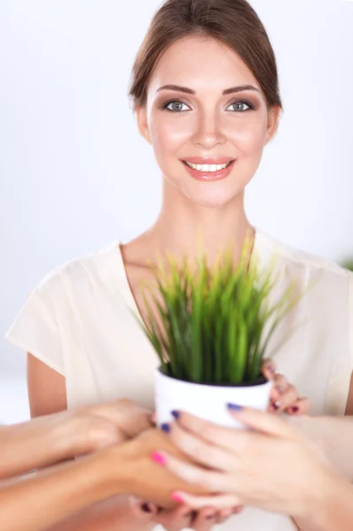
[[(143, 323), (139, 287), (153, 281), (147, 264), (165, 250), (193, 258), (200, 233), (210, 262), (232, 243), (234, 263), (251, 234), (260, 261), (277, 259), (274, 297), (294, 278), (299, 289), (311, 285), (273, 337), (277, 342), (303, 322), (276, 361), (299, 396), (311, 397), (314, 412), (343, 414), (352, 373), (352, 277), (274, 241), (251, 227), (244, 212), (244, 189), (281, 110), (273, 50), (257, 14), (245, 0), (169, 0), (142, 42), (130, 94), (139, 131), (163, 174), (161, 212), (134, 241), (114, 242), (58, 268), (27, 300), (7, 337), (28, 352), (32, 415), (118, 396), (152, 407), (157, 357), (131, 310)], [(288, 410), (280, 403), (288, 382), (278, 385), (273, 409)], [(289, 389), (290, 411), (302, 412)], [(173, 529), (209, 528), (205, 519), (183, 516), (155, 521)], [(295, 528), (289, 517), (257, 509), (224, 529), (235, 524), (240, 530)]]

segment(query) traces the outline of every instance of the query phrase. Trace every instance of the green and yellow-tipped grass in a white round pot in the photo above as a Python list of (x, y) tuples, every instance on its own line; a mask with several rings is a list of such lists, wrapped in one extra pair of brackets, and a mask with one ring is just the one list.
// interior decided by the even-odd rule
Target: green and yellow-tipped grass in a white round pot
[(226, 404), (265, 410), (272, 383), (261, 373), (270, 339), (281, 319), (296, 304), (292, 284), (270, 303), (273, 268), (249, 262), (248, 245), (234, 266), (230, 252), (209, 266), (177, 263), (168, 255), (167, 271), (159, 260), (154, 271), (157, 291), (145, 296), (145, 332), (160, 366), (156, 372), (157, 425), (173, 411), (187, 411), (221, 426), (239, 424)]

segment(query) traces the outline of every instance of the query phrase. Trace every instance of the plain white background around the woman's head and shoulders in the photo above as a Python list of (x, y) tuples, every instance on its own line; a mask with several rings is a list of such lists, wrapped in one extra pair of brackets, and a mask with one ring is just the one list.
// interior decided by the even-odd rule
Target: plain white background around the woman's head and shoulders
[[(0, 0), (4, 336), (54, 266), (155, 218), (160, 175), (127, 99), (155, 0)], [(250, 220), (288, 244), (353, 255), (353, 4), (252, 0), (285, 112), (249, 186)], [(25, 357), (0, 342), (0, 422), (27, 417)]]

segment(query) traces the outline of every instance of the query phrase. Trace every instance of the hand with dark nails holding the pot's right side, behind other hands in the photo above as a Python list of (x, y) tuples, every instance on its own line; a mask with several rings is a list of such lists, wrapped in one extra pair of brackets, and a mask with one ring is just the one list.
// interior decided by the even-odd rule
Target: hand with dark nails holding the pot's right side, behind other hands
[(272, 359), (267, 359), (262, 372), (267, 380), (273, 381), (269, 412), (286, 412), (289, 415), (302, 415), (310, 410), (309, 398), (298, 396), (298, 392), (282, 373), (276, 370)]

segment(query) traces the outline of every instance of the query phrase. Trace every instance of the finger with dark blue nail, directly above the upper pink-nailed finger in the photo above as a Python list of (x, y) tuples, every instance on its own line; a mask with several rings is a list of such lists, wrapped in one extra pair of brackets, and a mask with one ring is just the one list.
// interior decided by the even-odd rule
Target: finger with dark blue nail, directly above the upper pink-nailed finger
[[(197, 437), (183, 429), (178, 423), (169, 425), (169, 436), (175, 446), (200, 465), (223, 471), (229, 470), (232, 466), (234, 457), (229, 451)], [(233, 433), (233, 438), (234, 436), (236, 434)]]

